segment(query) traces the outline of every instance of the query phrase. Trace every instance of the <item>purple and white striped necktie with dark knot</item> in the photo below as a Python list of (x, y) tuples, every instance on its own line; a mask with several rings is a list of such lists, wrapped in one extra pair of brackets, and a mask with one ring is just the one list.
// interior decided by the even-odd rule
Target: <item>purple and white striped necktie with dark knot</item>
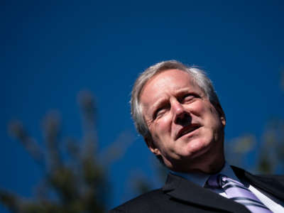
[(227, 197), (244, 204), (253, 213), (272, 213), (248, 188), (241, 182), (232, 180), (225, 175), (212, 175), (207, 180), (210, 187), (222, 187)]

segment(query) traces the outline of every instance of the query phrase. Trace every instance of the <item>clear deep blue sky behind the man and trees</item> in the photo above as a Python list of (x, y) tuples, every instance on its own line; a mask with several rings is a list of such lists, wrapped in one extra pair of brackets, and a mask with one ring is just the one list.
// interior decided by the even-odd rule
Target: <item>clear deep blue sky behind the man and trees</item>
[(20, 119), (42, 141), (40, 122), (58, 109), (63, 133), (80, 138), (76, 97), (87, 89), (97, 100), (102, 148), (124, 131), (134, 135), (109, 170), (109, 207), (129, 200), (136, 173), (153, 178), (129, 94), (138, 72), (160, 60), (207, 70), (226, 113), (226, 140), (261, 137), (271, 117), (284, 118), (283, 14), (283, 1), (1, 1), (0, 187), (31, 197), (42, 176), (8, 136), (8, 122)]

